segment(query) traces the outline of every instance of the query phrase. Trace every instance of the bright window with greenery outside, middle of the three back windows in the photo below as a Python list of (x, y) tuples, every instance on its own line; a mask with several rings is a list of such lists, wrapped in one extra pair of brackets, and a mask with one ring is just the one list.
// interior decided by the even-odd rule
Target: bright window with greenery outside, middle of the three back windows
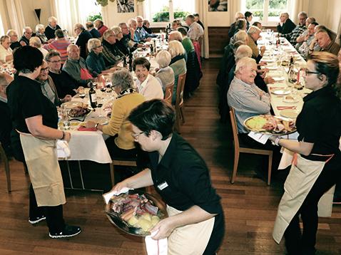
[(174, 19), (193, 14), (195, 0), (146, 0), (146, 17), (151, 24), (164, 26)]

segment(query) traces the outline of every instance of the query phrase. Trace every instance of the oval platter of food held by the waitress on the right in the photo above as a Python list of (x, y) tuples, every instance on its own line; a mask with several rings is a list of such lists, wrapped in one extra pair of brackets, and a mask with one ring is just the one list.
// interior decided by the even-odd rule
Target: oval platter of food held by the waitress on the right
[(257, 115), (247, 118), (244, 126), (253, 132), (262, 132), (266, 135), (288, 135), (296, 132), (295, 121), (273, 115)]

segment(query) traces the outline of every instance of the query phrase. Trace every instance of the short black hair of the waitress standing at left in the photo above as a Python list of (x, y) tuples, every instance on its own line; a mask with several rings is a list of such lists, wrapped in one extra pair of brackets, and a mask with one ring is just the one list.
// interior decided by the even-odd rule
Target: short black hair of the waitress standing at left
[(38, 48), (22, 46), (13, 53), (13, 65), (18, 72), (33, 73), (43, 63), (43, 58)]

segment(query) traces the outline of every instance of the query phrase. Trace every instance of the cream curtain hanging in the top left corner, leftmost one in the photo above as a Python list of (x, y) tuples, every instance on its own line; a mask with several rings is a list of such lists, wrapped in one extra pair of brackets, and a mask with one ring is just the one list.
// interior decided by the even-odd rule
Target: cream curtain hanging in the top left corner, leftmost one
[(6, 7), (10, 21), (10, 27), (14, 29), (19, 38), (23, 33), (25, 25), (23, 7), (20, 0), (6, 0)]

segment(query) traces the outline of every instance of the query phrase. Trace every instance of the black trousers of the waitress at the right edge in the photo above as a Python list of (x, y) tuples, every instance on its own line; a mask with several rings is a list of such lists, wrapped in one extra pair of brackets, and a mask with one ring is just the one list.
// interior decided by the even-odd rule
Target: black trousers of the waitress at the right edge
[[(326, 163), (320, 176), (307, 194), (305, 201), (285, 231), (285, 246), (289, 254), (315, 254), (317, 233), (317, 204), (327, 190), (341, 179), (341, 157), (337, 155)], [(300, 229), (300, 216), (303, 231)]]

